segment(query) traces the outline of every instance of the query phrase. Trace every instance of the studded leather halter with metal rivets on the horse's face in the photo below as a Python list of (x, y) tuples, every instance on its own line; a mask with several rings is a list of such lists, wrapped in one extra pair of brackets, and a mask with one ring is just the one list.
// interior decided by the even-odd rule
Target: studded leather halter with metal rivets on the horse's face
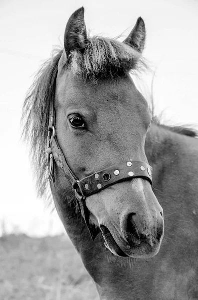
[(90, 212), (85, 203), (86, 197), (117, 182), (137, 177), (147, 179), (152, 184), (152, 167), (148, 163), (140, 160), (123, 161), (120, 164), (112, 165), (79, 180), (69, 167), (55, 135), (55, 111), (53, 99), (50, 101), (46, 153), (49, 164), (49, 181), (52, 181), (54, 185), (55, 161), (75, 191), (78, 207), (92, 239), (95, 238), (96, 232), (89, 224)]

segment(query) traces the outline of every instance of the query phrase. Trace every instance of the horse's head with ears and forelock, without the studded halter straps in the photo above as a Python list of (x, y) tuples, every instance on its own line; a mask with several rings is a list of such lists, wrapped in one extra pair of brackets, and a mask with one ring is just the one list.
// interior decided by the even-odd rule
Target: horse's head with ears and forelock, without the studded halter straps
[[(89, 37), (83, 7), (68, 20), (56, 78), (55, 127), (79, 180), (123, 161), (129, 167), (133, 161), (148, 163), (144, 146), (151, 113), (129, 73), (144, 65), (144, 43), (141, 17), (124, 42)], [(131, 177), (87, 196), (84, 205), (112, 253), (151, 257), (163, 238), (163, 209), (150, 181), (133, 178), (132, 171)], [(74, 197), (57, 167), (54, 176), (59, 190)]]

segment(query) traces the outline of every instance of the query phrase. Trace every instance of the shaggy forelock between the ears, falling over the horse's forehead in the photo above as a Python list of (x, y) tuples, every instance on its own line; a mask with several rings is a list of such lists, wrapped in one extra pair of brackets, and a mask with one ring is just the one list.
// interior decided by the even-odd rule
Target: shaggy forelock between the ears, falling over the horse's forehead
[(117, 39), (101, 36), (90, 37), (83, 54), (72, 51), (68, 66), (74, 75), (85, 79), (122, 76), (148, 68), (140, 52)]

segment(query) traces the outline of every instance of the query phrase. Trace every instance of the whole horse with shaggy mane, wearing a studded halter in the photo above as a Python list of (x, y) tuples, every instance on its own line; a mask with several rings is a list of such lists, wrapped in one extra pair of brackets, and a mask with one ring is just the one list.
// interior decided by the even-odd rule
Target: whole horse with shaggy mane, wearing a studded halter
[(139, 17), (123, 42), (89, 37), (76, 10), (25, 98), (23, 135), (100, 299), (195, 300), (197, 132), (152, 120), (131, 76), (148, 67), (145, 35)]

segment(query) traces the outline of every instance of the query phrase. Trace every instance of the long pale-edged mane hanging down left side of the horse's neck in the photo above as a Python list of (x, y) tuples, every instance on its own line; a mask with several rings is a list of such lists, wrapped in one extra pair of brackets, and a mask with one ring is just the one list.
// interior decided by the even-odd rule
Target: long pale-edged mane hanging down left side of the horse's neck
[(35, 170), (38, 196), (43, 196), (48, 186), (45, 148), (49, 105), (50, 99), (55, 95), (58, 61), (61, 55), (62, 50), (59, 50), (39, 69), (27, 92), (22, 109), (22, 137), (30, 144), (30, 156)]

